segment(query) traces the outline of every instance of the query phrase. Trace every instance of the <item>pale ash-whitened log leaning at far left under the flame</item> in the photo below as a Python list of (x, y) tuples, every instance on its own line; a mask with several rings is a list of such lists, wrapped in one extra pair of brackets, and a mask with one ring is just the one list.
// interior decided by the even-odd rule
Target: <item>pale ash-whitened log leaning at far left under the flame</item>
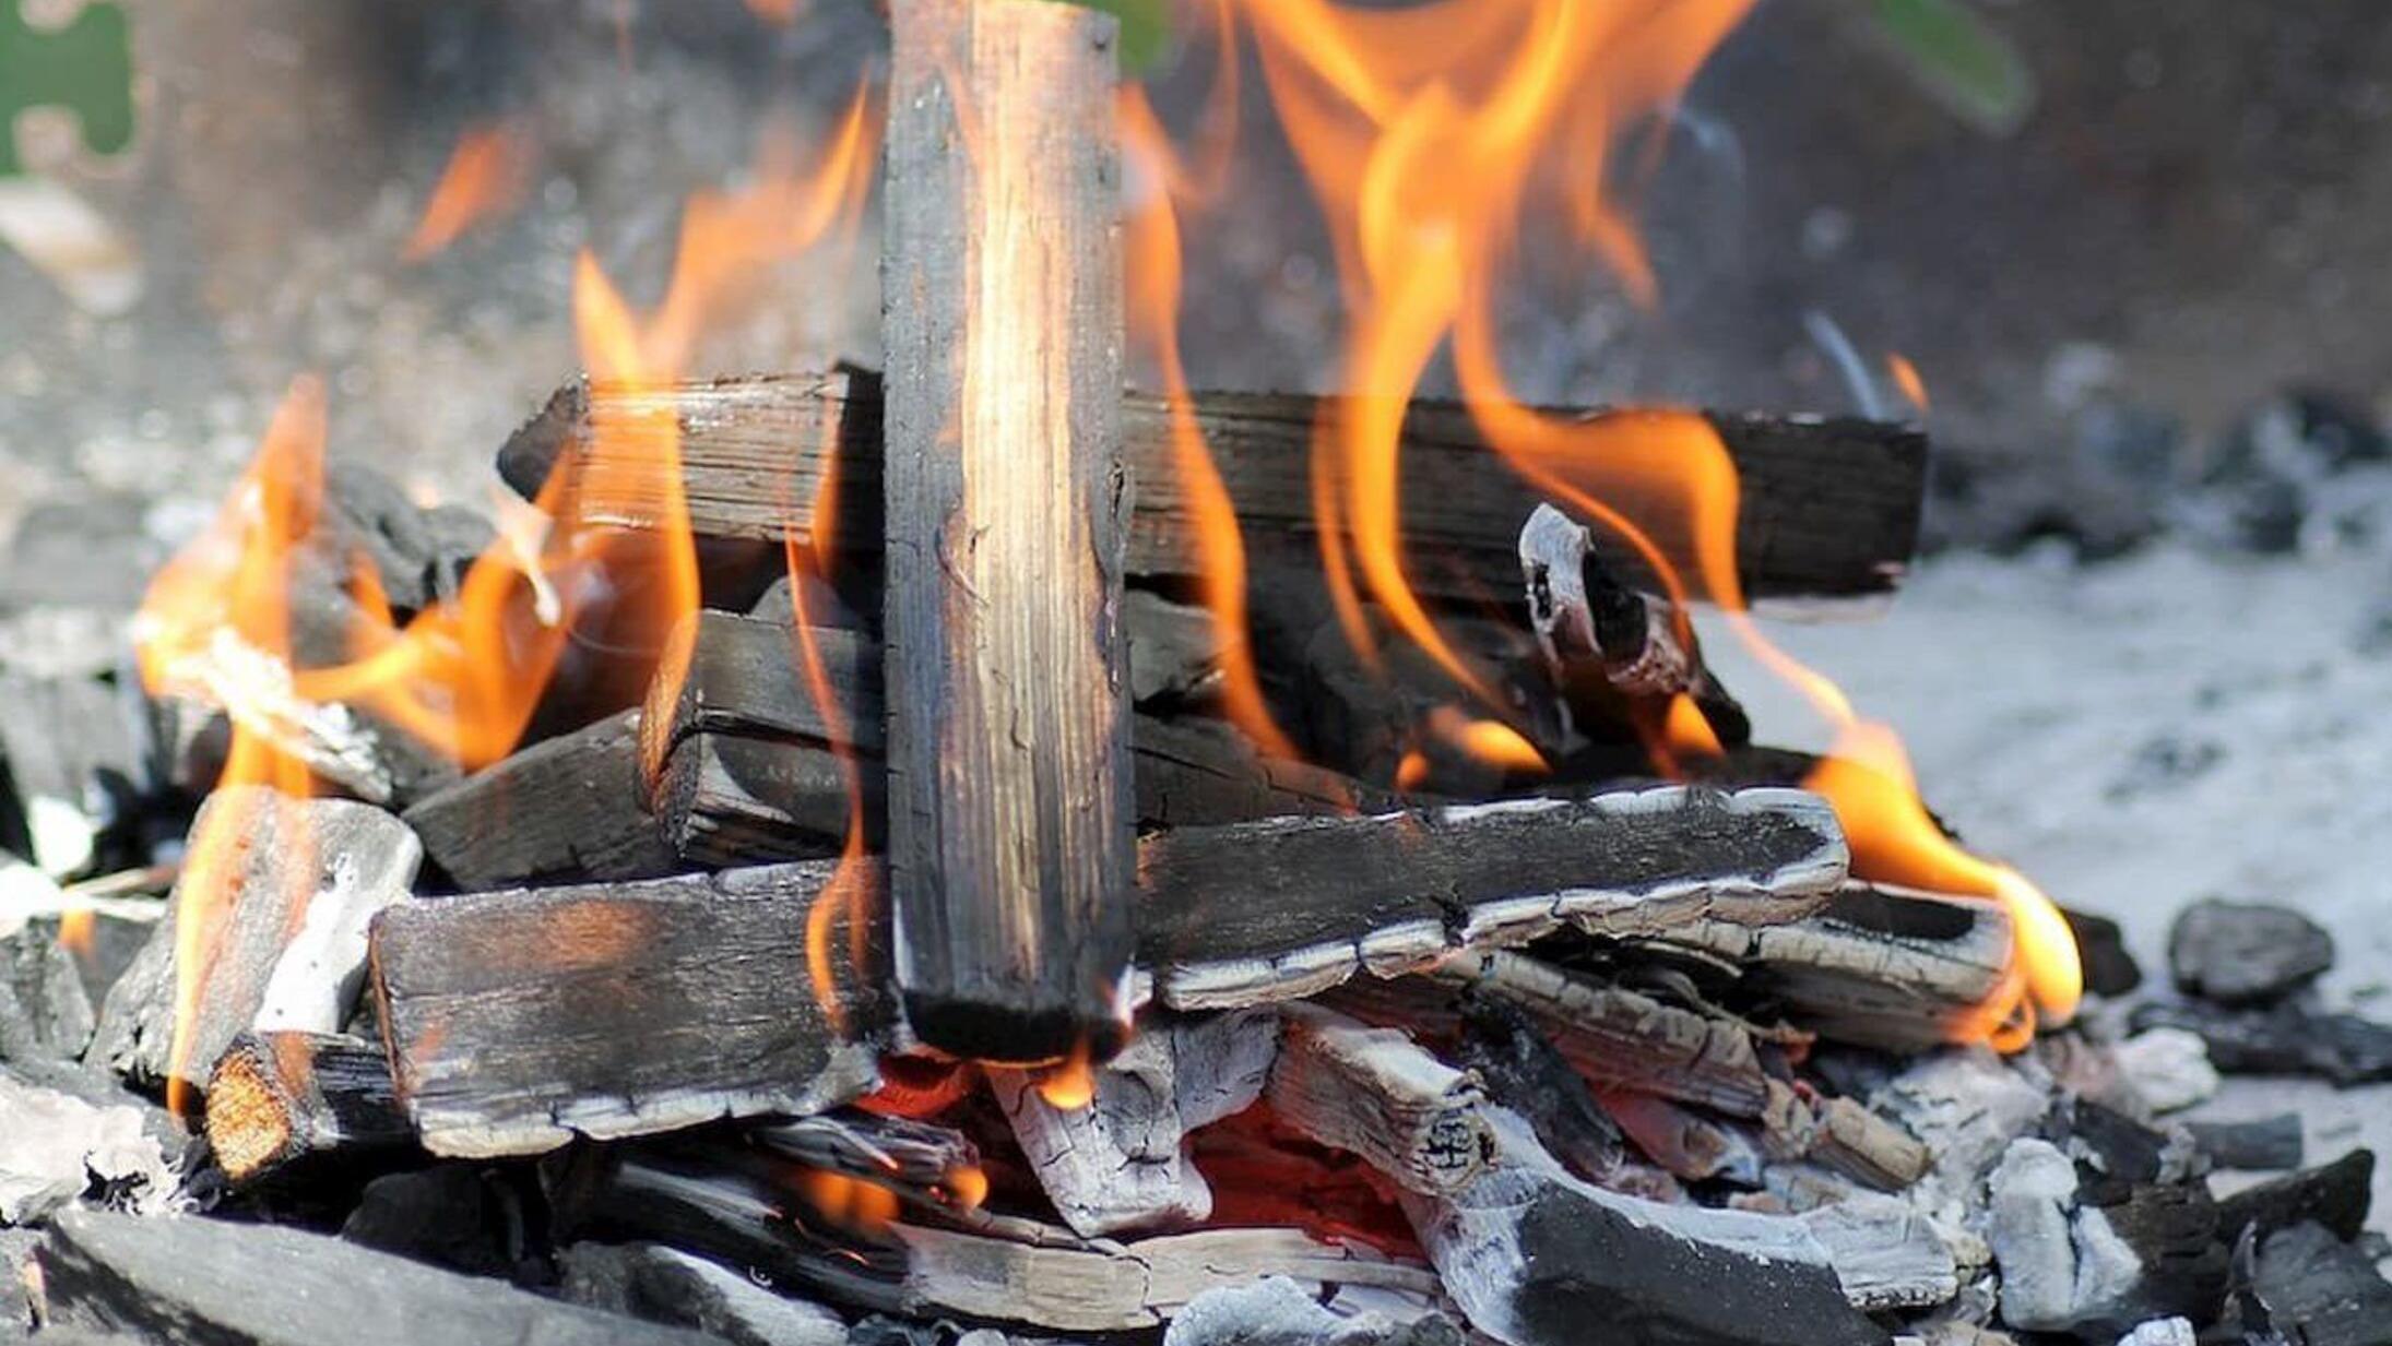
[[(337, 1033), (366, 973), (366, 923), (407, 897), (423, 846), (395, 815), (347, 799), (220, 789), (191, 822), (225, 854), (184, 865), (172, 911), (100, 1009), (91, 1059), (134, 1081), (208, 1083), (249, 1028)], [(208, 885), (206, 892), (189, 892)], [(182, 923), (201, 920), (196, 935)], [(177, 1052), (177, 956), (199, 954)]]

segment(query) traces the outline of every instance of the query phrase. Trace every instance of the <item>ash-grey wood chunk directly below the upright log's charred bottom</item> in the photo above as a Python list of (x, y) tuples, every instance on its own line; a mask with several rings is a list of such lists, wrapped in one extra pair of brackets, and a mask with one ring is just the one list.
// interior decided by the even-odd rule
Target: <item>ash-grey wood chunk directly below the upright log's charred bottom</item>
[(1261, 1097), (1277, 1052), (1275, 1016), (1232, 1011), (1146, 1023), (1093, 1069), (1086, 1100), (1055, 1102), (1021, 1069), (988, 1066), (988, 1083), (1055, 1212), (1093, 1238), (1213, 1215), (1186, 1136)]

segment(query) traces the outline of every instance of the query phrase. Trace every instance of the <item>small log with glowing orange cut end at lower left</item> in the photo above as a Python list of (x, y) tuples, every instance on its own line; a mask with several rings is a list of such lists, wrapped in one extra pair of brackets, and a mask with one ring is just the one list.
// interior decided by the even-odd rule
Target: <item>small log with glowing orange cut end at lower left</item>
[(414, 1140), (380, 1042), (242, 1033), (208, 1078), (208, 1145), (234, 1183), (297, 1167), (371, 1164)]

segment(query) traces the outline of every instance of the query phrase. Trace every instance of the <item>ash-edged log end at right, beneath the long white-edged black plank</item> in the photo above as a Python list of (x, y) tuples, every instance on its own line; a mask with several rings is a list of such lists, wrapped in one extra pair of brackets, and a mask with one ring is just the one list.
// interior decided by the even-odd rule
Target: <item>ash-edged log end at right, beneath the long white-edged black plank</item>
[(2002, 987), (2012, 952), (2009, 916), (1990, 899), (1863, 882), (1801, 920), (1696, 920), (1655, 940), (1741, 963), (1751, 990), (1823, 1038), (1890, 1052), (1949, 1040)]

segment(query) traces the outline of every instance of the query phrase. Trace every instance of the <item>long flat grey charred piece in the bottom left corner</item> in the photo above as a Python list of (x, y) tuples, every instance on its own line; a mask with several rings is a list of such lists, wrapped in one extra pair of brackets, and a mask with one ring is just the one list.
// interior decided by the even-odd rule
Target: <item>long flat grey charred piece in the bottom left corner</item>
[(41, 1267), (53, 1322), (160, 1341), (710, 1341), (273, 1224), (69, 1210), (50, 1226)]

